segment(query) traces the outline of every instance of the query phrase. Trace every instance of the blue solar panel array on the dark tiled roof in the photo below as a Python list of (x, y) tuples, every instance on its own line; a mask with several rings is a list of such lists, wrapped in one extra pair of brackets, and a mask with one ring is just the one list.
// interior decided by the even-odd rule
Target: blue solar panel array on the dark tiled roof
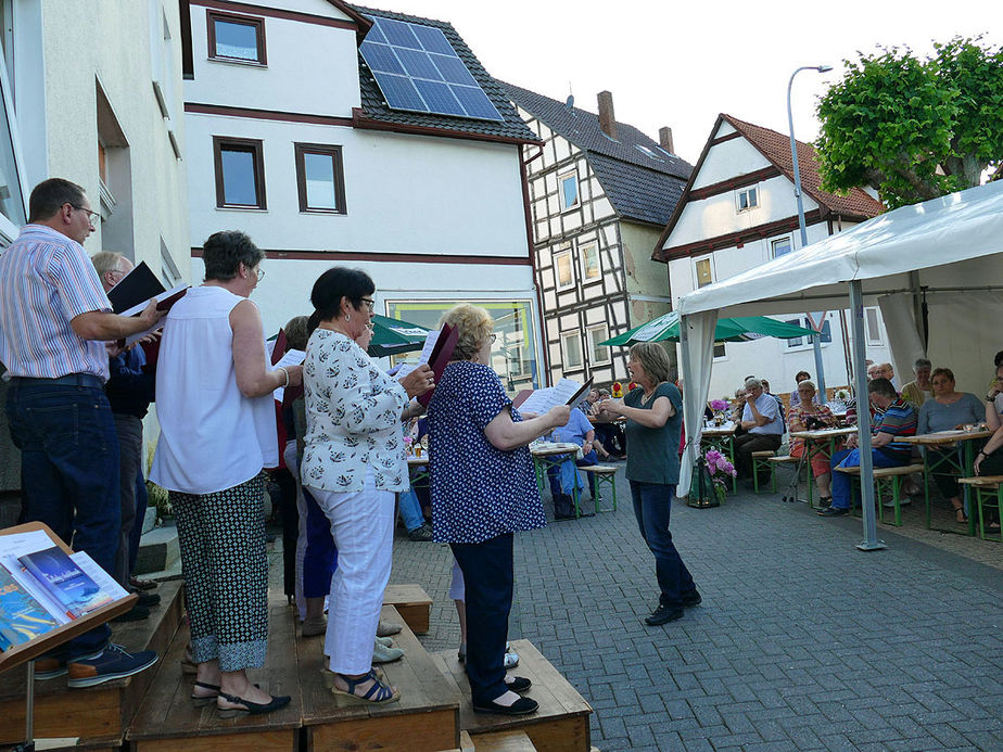
[(441, 29), (393, 18), (371, 21), (359, 52), (389, 107), (505, 119)]

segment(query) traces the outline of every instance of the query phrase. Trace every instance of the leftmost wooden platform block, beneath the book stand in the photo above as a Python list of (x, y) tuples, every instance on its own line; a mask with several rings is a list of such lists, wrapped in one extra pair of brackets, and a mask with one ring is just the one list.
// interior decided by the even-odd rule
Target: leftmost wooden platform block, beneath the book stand
[[(181, 622), (181, 589), (180, 582), (162, 583), (153, 590), (161, 596), (161, 603), (150, 609), (150, 617), (112, 624), (112, 641), (127, 650), (155, 650), (163, 661)], [(36, 681), (36, 738), (71, 737), (85, 747), (118, 747), (158, 665), (82, 689), (68, 688), (65, 676)], [(18, 666), (0, 676), (0, 743), (23, 741), (26, 671)]]

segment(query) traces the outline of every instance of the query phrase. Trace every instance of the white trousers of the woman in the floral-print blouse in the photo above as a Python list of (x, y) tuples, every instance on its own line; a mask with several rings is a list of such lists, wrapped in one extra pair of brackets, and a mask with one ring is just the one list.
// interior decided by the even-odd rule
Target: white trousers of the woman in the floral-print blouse
[(365, 674), (372, 667), (372, 640), (393, 562), (394, 495), (377, 490), (371, 472), (360, 492), (308, 487), (331, 522), (338, 547), (323, 652), (331, 671)]

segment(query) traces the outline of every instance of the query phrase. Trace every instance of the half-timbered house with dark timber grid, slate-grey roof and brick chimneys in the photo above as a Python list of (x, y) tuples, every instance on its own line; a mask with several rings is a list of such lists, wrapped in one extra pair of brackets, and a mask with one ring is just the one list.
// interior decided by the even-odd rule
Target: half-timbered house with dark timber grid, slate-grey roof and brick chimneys
[(618, 123), (612, 95), (599, 113), (505, 85), (543, 142), (526, 146), (536, 284), (550, 377), (627, 379), (625, 359), (599, 343), (670, 310), (665, 269), (650, 250), (693, 167)]

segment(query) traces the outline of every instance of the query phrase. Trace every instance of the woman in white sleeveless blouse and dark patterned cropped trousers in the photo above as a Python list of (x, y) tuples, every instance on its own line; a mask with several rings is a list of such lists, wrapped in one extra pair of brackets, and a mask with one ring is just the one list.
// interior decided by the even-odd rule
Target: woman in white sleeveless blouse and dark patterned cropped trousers
[(268, 559), (262, 468), (276, 464), (271, 393), (299, 366), (271, 370), (247, 297), (265, 254), (243, 232), (205, 241), (205, 282), (165, 319), (156, 371), (161, 437), (150, 477), (169, 492), (198, 664), (192, 699), (220, 715), (289, 703), (252, 684), (268, 639)]

